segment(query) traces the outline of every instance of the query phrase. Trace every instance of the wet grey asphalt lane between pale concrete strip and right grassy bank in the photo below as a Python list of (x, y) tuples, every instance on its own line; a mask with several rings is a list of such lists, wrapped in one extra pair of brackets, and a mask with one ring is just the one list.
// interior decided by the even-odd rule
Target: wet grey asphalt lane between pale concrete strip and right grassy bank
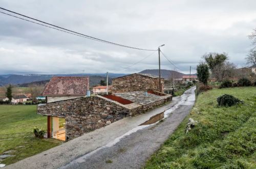
[(135, 128), (135, 132), (127, 132), (61, 168), (141, 168), (189, 114), (194, 103), (195, 87), (187, 90), (175, 107), (165, 111), (163, 122)]

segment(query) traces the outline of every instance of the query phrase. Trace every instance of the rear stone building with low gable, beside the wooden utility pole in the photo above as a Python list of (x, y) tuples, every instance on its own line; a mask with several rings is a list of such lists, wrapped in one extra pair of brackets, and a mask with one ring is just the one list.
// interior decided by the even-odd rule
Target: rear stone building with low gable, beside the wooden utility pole
[[(134, 91), (159, 91), (159, 77), (152, 74), (134, 73), (112, 80), (112, 93)], [(164, 78), (161, 78), (161, 91), (164, 91)]]

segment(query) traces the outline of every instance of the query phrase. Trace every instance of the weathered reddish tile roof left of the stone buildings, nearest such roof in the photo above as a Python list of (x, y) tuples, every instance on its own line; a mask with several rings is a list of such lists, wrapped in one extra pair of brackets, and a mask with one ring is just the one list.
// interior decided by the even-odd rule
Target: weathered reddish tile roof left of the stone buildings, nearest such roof
[(52, 77), (42, 96), (86, 96), (89, 77)]

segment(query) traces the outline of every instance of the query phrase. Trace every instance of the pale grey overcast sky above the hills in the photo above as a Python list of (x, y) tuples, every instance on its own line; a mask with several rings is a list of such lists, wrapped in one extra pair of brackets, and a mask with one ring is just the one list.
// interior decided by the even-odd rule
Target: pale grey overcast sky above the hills
[[(165, 44), (162, 52), (183, 73), (206, 52), (226, 52), (238, 67), (246, 66), (248, 35), (256, 28), (255, 0), (1, 0), (0, 7), (115, 43), (147, 49)], [(0, 24), (0, 74), (158, 69), (158, 52), (100, 43), (2, 13)], [(174, 69), (162, 55), (161, 68)]]

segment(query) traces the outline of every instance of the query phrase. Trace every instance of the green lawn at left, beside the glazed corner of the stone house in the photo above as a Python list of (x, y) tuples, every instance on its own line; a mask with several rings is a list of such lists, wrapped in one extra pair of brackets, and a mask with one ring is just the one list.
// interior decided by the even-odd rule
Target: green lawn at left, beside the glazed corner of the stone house
[(36, 105), (0, 105), (0, 154), (9, 155), (0, 163), (11, 164), (26, 157), (55, 147), (56, 139), (35, 138), (35, 126), (46, 129), (47, 118), (36, 114)]

